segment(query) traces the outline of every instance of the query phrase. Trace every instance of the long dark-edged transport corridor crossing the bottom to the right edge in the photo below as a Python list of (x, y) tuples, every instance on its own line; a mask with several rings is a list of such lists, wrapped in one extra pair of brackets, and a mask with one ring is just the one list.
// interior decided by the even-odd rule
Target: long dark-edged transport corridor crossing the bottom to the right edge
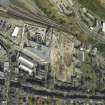
[(20, 90), (23, 90), (24, 92), (31, 94), (31, 95), (39, 95), (39, 96), (49, 96), (49, 97), (55, 97), (60, 99), (74, 99), (74, 100), (104, 100), (105, 96), (103, 95), (80, 95), (80, 94), (70, 94), (69, 92), (63, 92), (58, 91), (56, 89), (45, 89), (44, 87), (39, 87), (37, 84), (35, 84), (35, 87), (33, 88), (31, 85), (27, 86), (27, 84), (20, 84), (18, 82), (11, 81), (11, 87), (19, 88)]

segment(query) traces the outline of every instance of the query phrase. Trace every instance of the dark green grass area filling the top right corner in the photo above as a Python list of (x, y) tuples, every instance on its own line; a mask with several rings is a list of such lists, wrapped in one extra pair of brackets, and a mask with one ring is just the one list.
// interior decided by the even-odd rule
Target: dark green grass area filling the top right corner
[(98, 0), (78, 0), (80, 4), (93, 11), (96, 15), (105, 20), (105, 8)]

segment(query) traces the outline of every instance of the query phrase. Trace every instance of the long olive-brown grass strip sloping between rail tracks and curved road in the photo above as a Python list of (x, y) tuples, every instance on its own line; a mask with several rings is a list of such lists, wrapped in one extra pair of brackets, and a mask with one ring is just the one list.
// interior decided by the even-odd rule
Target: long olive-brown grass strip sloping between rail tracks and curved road
[[(54, 4), (51, 4), (49, 0), (33, 0), (36, 5), (52, 20), (56, 21), (57, 23), (61, 23), (68, 28), (71, 29), (71, 26), (73, 26), (72, 31), (75, 32), (77, 30), (80, 31), (79, 26), (76, 23), (74, 16), (66, 16), (61, 13), (59, 13), (59, 10), (54, 6)], [(72, 25), (71, 25), (72, 24)], [(83, 33), (80, 33), (77, 38), (85, 42), (88, 38), (88, 36), (84, 35)]]

